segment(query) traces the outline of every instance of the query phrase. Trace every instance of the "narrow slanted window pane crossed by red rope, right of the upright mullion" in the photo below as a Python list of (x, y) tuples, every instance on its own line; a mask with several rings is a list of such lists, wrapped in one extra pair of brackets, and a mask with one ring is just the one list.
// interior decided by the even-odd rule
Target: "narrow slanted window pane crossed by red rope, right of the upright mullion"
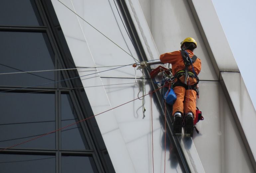
[[(61, 95), (61, 124), (62, 127), (80, 121), (75, 108), (67, 94)], [(75, 124), (61, 131), (62, 149), (89, 149), (84, 132), (80, 124)]]

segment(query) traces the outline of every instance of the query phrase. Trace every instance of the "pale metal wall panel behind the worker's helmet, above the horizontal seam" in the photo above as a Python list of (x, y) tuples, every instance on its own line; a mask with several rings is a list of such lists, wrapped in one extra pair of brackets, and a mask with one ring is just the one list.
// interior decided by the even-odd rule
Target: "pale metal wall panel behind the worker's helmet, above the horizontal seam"
[(150, 15), (146, 19), (150, 20), (150, 30), (160, 54), (180, 50), (180, 43), (192, 37), (197, 42), (194, 53), (202, 62), (199, 79), (218, 80), (187, 0), (148, 1), (146, 5), (145, 1), (139, 2), (142, 9), (151, 3), (151, 13), (144, 14)]

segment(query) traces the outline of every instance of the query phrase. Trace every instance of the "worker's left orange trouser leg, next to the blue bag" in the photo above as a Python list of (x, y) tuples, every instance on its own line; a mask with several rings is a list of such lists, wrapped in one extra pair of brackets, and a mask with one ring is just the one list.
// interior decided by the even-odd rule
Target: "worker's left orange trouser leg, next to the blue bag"
[(182, 86), (174, 87), (174, 92), (177, 96), (177, 100), (173, 104), (173, 115), (176, 112), (181, 112), (183, 114), (183, 110), (184, 110), (183, 101), (184, 101), (185, 91), (186, 91), (186, 89)]

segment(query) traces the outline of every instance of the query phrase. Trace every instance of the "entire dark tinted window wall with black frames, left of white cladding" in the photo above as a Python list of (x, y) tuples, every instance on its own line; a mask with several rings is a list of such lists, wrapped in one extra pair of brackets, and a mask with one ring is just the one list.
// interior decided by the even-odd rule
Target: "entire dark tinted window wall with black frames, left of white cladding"
[(114, 172), (51, 0), (0, 0), (0, 28), (0, 173)]

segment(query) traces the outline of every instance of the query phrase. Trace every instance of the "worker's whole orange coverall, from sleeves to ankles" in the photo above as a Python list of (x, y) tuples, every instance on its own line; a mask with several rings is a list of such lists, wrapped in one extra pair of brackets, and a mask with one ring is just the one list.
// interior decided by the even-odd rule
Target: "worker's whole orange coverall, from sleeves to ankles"
[[(191, 50), (186, 50), (189, 53), (190, 58), (194, 55)], [(172, 64), (172, 73), (175, 75), (178, 71), (185, 69), (185, 64), (181, 55), (181, 51), (174, 51), (170, 53), (164, 53), (160, 55), (160, 61), (162, 63)], [(196, 75), (201, 71), (201, 60), (197, 58), (193, 63), (194, 71)], [(189, 66), (189, 71), (193, 72), (192, 65)], [(174, 82), (177, 82), (178, 79), (175, 79)], [(185, 76), (180, 77), (180, 80), (184, 83)], [(193, 85), (196, 83), (196, 79), (189, 77), (187, 79), (187, 84)], [(181, 112), (186, 115), (188, 112), (192, 112), (195, 120), (195, 108), (196, 108), (196, 92), (194, 90), (186, 90), (182, 86), (174, 87), (174, 92), (177, 96), (177, 100), (173, 105), (173, 115), (175, 112)]]

